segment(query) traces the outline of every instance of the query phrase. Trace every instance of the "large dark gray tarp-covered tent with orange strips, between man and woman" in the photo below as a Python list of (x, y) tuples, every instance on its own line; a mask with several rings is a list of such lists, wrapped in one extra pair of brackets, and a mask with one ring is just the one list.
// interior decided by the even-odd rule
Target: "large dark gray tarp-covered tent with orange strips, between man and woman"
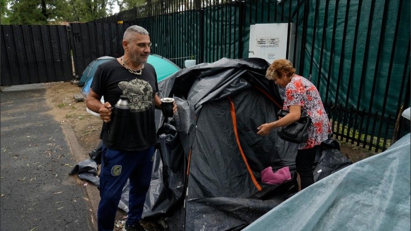
[[(157, 114), (159, 149), (143, 218), (168, 230), (238, 230), (297, 191), (296, 144), (257, 127), (276, 120), (283, 101), (263, 59), (221, 59), (182, 69), (159, 83), (178, 113)], [(341, 152), (340, 152), (341, 155)], [(292, 180), (261, 182), (288, 166)], [(159, 222), (161, 223), (161, 222)]]

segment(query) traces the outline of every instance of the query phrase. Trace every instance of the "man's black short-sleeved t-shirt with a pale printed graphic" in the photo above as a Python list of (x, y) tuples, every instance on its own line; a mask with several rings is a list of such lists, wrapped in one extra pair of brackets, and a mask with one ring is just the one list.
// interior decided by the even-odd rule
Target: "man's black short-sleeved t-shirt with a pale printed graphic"
[[(123, 139), (118, 146), (113, 146), (107, 140), (111, 121), (103, 123), (100, 139), (108, 148), (136, 151), (157, 144), (154, 95), (158, 91), (158, 84), (152, 65), (145, 63), (141, 75), (135, 75), (128, 72), (117, 59), (103, 63), (96, 70), (91, 89), (104, 97), (104, 101), (109, 102), (112, 108), (120, 95), (128, 98), (130, 111)], [(111, 117), (113, 119), (113, 113)]]

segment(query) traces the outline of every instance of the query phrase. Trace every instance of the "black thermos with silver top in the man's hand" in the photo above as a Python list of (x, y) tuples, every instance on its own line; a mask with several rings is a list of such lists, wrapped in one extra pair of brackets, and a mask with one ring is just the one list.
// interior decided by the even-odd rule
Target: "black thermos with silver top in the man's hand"
[(126, 126), (127, 114), (129, 111), (127, 97), (121, 95), (114, 108), (111, 109), (111, 126), (108, 131), (108, 142), (111, 145), (120, 145), (123, 139), (124, 127)]

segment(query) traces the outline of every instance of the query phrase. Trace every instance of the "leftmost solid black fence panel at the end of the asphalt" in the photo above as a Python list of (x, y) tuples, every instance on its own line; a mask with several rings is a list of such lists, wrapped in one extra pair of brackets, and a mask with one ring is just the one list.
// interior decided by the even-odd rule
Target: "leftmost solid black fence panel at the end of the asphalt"
[(70, 81), (66, 26), (1, 25), (1, 86)]

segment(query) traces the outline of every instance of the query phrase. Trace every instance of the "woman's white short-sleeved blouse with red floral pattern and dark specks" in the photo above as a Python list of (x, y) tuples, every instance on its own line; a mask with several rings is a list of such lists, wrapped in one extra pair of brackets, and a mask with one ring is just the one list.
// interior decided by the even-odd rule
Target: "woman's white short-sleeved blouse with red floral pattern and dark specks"
[(320, 93), (309, 80), (300, 75), (294, 75), (285, 87), (283, 109), (289, 110), (291, 105), (303, 107), (312, 120), (311, 126), (308, 127), (308, 140), (298, 144), (298, 149), (312, 148), (328, 139), (328, 135), (332, 133), (331, 125)]

